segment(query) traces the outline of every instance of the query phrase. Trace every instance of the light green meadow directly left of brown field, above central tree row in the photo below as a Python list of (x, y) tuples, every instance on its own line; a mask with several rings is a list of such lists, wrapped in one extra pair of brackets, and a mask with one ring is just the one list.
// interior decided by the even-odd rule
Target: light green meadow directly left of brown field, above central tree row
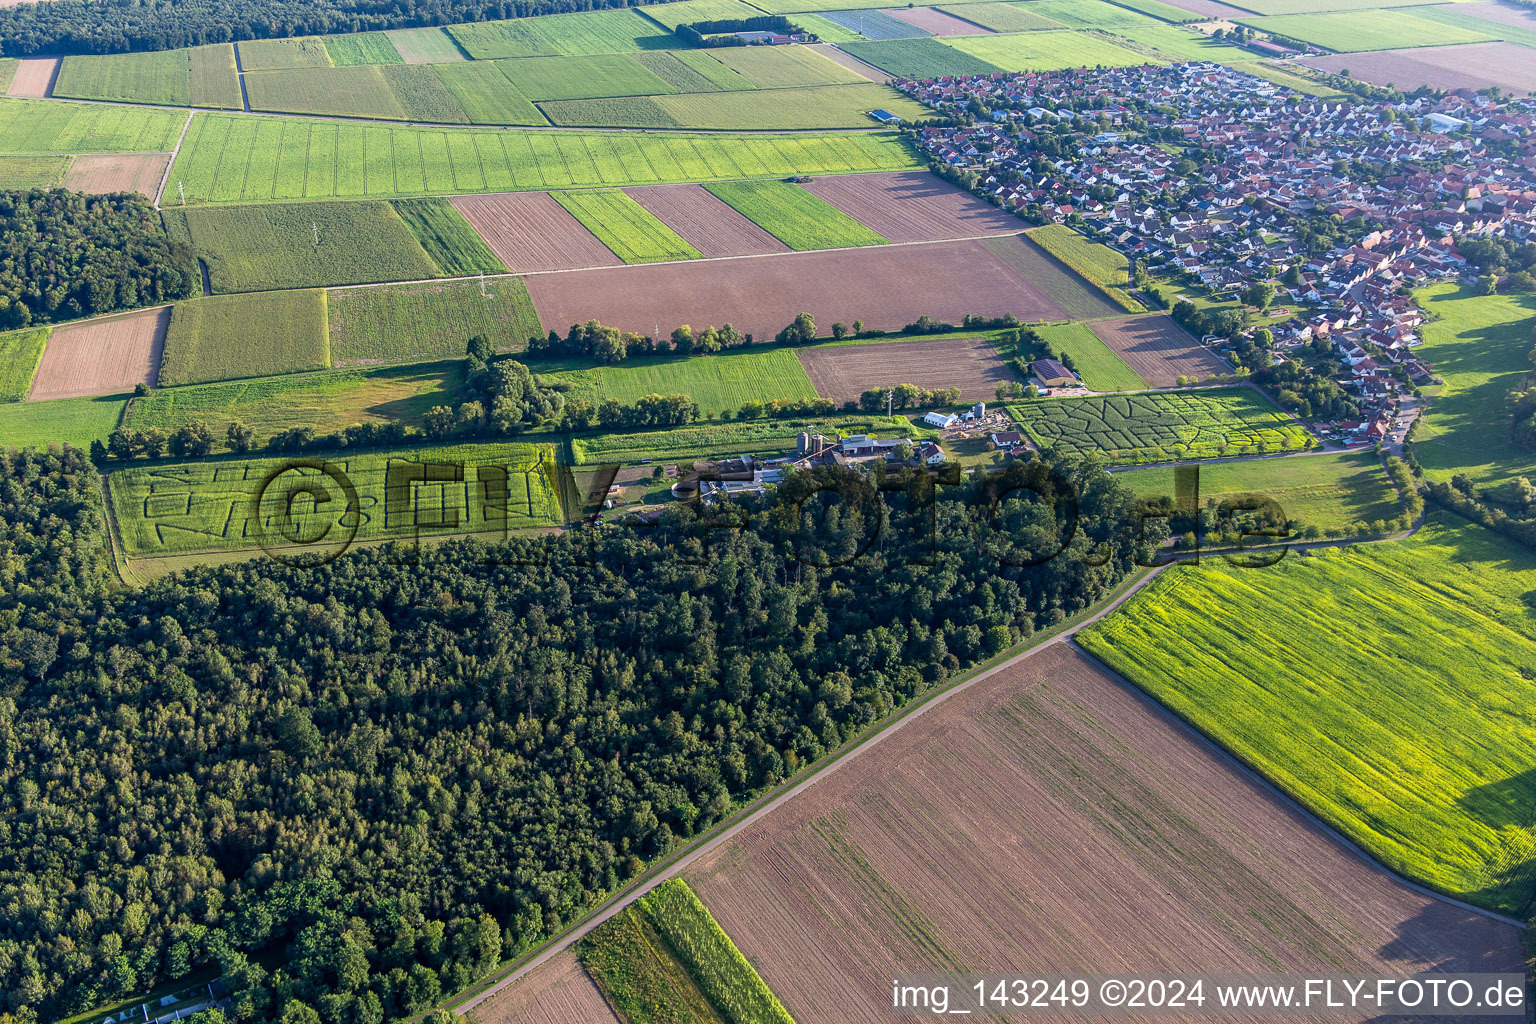
[[(542, 365), (533, 368), (547, 373)], [(716, 356), (641, 356), (619, 365), (558, 370), (548, 376), (568, 384), (573, 398), (594, 405), (610, 398), (633, 405), (645, 395), (687, 395), (705, 413), (734, 413), (754, 401), (816, 398), (816, 387), (793, 348), (745, 348)]]

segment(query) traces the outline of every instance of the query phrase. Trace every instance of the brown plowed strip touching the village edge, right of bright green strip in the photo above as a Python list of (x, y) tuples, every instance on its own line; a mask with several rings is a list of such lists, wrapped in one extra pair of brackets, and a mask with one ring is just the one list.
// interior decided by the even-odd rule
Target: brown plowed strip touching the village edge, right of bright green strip
[(891, 241), (1011, 235), (1023, 227), (1012, 213), (925, 170), (828, 175), (805, 189)]

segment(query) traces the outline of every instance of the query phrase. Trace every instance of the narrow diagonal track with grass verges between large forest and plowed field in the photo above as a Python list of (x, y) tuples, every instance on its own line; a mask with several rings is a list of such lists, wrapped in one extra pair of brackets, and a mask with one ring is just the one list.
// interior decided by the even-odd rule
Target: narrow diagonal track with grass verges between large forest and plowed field
[[(725, 818), (716, 824), (708, 832), (696, 837), (684, 849), (662, 858), (653, 864), (645, 874), (630, 883), (625, 890), (621, 890), (605, 900), (601, 906), (591, 910), (587, 917), (567, 926), (559, 935), (550, 938), (544, 946), (524, 953), (522, 958), (513, 961), (499, 975), (492, 978), (484, 978), (476, 986), (439, 1003), (438, 1006), (462, 1013), (470, 1010), (485, 999), (492, 998), (502, 989), (519, 981), (527, 973), (541, 967), (547, 961), (553, 960), (556, 955), (565, 952), (579, 940), (585, 938), (590, 932), (598, 929), (601, 924), (614, 918), (631, 906), (636, 900), (645, 894), (656, 889), (656, 886), (679, 877), (687, 867), (693, 866), (694, 861), (703, 855), (716, 851), (725, 843), (736, 838), (742, 831), (777, 809), (780, 804), (793, 800), (802, 792), (808, 791), (816, 783), (829, 777), (839, 768), (851, 761), (859, 754), (868, 751), (869, 748), (880, 743), (883, 738), (905, 728), (911, 722), (920, 718), (929, 709), (946, 702), (952, 695), (969, 689), (972, 685), (989, 679), (991, 676), (1012, 666), (1015, 662), (1025, 660), (1051, 648), (1055, 643), (1069, 640), (1077, 629), (1089, 626), (1109, 613), (1115, 611), (1126, 600), (1134, 597), (1141, 588), (1158, 577), (1169, 565), (1158, 567), (1140, 567), (1135, 573), (1121, 580), (1115, 590), (1112, 590), (1101, 602), (1084, 608), (1077, 616), (1063, 620), (1061, 623), (1052, 626), (1051, 629), (1034, 634), (1032, 637), (1015, 643), (1012, 648), (994, 656), (992, 659), (975, 665), (965, 672), (954, 676), (952, 679), (940, 683), (938, 686), (929, 689), (926, 694), (912, 699), (903, 708), (892, 712), (883, 723), (872, 726), (862, 735), (848, 740), (842, 748), (823, 755), (819, 761), (809, 765), (797, 780), (790, 780), (754, 800), (753, 803), (740, 808), (731, 817)], [(418, 1015), (419, 1016), (419, 1015)]]

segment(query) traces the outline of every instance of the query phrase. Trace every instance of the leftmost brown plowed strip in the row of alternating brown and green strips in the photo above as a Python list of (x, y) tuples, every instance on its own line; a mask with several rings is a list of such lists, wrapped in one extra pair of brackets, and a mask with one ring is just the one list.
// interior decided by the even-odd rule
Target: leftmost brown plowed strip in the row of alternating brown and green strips
[(515, 273), (624, 264), (548, 192), (459, 195), (453, 206)]

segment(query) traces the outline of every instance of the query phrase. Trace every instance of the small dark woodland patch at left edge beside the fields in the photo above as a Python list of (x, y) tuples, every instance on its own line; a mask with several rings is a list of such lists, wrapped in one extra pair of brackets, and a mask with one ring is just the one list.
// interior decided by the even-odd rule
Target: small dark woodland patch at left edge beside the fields
[(201, 284), (140, 195), (0, 190), (0, 330), (169, 302)]

